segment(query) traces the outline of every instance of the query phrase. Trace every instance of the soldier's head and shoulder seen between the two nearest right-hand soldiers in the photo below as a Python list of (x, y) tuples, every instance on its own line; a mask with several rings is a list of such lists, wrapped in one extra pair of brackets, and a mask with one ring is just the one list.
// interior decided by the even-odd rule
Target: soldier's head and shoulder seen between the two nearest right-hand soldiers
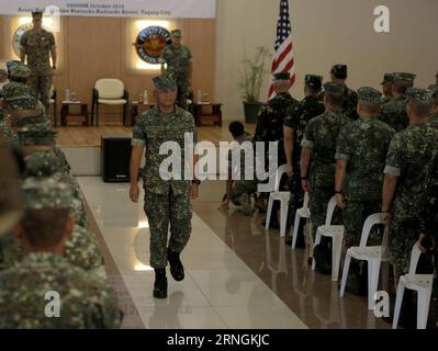
[(407, 127), (406, 90), (414, 86), (415, 75), (406, 72), (393, 73), (393, 97), (389, 103), (382, 106), (379, 120), (390, 125), (395, 133)]

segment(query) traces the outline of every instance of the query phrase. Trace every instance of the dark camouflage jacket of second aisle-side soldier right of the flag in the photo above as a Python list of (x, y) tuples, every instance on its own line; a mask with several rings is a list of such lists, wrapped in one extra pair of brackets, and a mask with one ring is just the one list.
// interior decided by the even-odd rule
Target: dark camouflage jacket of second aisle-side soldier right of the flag
[(310, 95), (296, 105), (290, 106), (285, 113), (284, 126), (293, 129), (293, 165), (299, 165), (301, 159), (301, 141), (305, 127), (313, 117), (323, 114), (325, 106), (317, 97)]

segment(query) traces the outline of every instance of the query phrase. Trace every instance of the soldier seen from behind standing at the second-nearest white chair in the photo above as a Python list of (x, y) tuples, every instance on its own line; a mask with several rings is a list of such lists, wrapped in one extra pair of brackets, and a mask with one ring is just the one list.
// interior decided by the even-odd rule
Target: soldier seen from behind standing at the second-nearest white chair
[[(345, 246), (359, 246), (368, 216), (380, 212), (383, 169), (388, 148), (394, 135), (379, 121), (381, 93), (373, 88), (358, 90), (360, 118), (340, 129), (336, 148), (336, 200), (342, 208)], [(370, 236), (368, 245), (381, 245)]]

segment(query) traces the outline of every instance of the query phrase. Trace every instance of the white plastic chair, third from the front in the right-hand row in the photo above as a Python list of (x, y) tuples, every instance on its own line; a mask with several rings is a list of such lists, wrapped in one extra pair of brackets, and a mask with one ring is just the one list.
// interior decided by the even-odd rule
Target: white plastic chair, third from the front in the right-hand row
[[(344, 226), (333, 226), (332, 219), (336, 208), (336, 196), (333, 196), (327, 205), (325, 225), (316, 229), (315, 246), (322, 237), (332, 238), (332, 281), (337, 282), (339, 275), (340, 254), (342, 253)], [(312, 270), (316, 268), (315, 258), (312, 260)]]

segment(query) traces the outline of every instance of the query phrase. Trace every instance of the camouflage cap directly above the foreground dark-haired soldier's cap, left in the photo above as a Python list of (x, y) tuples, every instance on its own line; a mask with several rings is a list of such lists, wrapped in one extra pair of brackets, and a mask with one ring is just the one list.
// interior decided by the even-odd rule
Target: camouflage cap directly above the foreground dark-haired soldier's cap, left
[(36, 151), (24, 158), (25, 178), (52, 177), (64, 171), (64, 163), (54, 150)]

